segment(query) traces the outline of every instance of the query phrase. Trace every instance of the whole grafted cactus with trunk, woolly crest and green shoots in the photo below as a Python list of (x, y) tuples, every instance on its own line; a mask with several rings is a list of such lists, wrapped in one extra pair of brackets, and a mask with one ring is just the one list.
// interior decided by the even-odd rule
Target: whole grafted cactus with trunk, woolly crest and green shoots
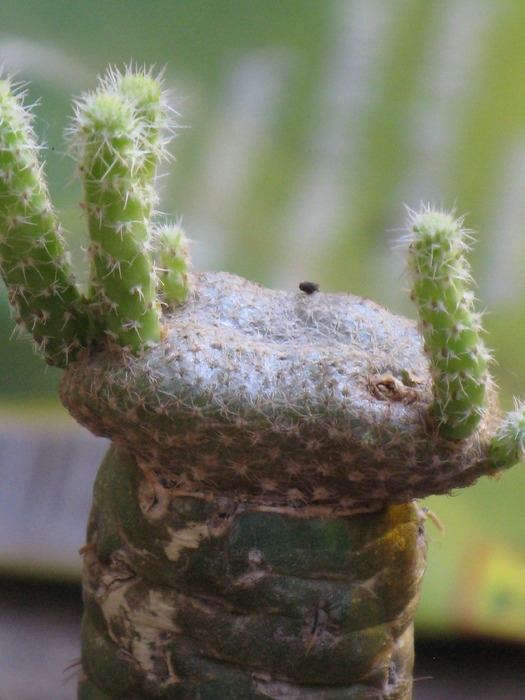
[(112, 441), (82, 547), (79, 698), (410, 698), (414, 499), (524, 449), (523, 407), (503, 417), (488, 373), (461, 220), (410, 218), (423, 337), (349, 294), (190, 274), (184, 234), (155, 221), (162, 87), (111, 70), (69, 130), (81, 294), (9, 81), (0, 108), (15, 315), (65, 368), (70, 413)]

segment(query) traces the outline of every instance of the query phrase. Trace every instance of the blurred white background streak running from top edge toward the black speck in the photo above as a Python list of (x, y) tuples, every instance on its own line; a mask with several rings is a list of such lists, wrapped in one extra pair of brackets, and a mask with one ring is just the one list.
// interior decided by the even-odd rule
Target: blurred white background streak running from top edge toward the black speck
[[(291, 279), (319, 276), (319, 257), (340, 233), (342, 218), (353, 208), (351, 182), (362, 130), (383, 78), (384, 49), (399, 8), (383, 0), (334, 3), (324, 71), (312, 90), (312, 144), (309, 162), (290, 202), (282, 248), (276, 255), (272, 284), (290, 287)], [(356, 206), (358, 203), (356, 203)]]

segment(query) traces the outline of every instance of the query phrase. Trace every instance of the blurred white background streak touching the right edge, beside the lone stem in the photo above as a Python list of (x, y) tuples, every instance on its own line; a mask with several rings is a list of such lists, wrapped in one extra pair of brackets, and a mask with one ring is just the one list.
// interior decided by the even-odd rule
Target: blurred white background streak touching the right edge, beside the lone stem
[(525, 134), (505, 151), (494, 183), (494, 212), (489, 218), (485, 267), (480, 276), (483, 299), (491, 305), (511, 303), (525, 293)]

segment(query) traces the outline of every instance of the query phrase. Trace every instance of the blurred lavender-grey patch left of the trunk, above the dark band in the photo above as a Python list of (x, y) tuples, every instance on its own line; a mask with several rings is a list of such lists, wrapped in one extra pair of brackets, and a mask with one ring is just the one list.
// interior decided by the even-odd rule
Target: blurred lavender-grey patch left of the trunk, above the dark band
[(72, 421), (2, 421), (0, 574), (80, 576), (78, 549), (107, 444)]

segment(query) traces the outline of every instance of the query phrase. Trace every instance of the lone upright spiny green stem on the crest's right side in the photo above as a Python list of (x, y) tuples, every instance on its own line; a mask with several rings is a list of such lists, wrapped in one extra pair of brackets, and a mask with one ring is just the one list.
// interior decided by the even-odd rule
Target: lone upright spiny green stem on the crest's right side
[(413, 214), (409, 229), (407, 268), (430, 357), (434, 415), (440, 433), (458, 440), (481, 419), (489, 359), (468, 289), (467, 232), (462, 220), (432, 209)]

